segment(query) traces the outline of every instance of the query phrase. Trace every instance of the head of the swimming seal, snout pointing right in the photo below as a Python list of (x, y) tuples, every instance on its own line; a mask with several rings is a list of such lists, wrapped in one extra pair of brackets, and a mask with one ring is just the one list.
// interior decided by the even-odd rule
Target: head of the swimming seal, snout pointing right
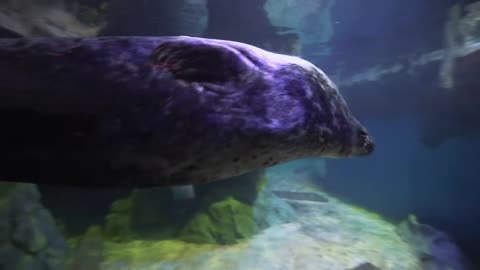
[(337, 86), (313, 64), (296, 59), (307, 84), (303, 86), (310, 97), (311, 139), (314, 156), (341, 158), (365, 156), (375, 144), (367, 129), (352, 114)]

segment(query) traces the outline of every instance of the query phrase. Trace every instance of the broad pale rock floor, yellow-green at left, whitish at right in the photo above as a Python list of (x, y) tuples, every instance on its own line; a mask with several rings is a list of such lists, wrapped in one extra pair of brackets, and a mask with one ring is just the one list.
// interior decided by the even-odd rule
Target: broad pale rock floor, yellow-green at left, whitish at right
[[(275, 197), (261, 192), (257, 201), (262, 194)], [(243, 204), (234, 198), (225, 201), (224, 205)], [(219, 246), (161, 240), (109, 245), (112, 250), (107, 253), (112, 255), (102, 264), (103, 270), (425, 270), (410, 245), (395, 234), (395, 226), (384, 219), (335, 198), (328, 203), (299, 202), (309, 211), (248, 239), (236, 239), (238, 243)], [(270, 213), (274, 211), (269, 208)], [(212, 224), (208, 215), (202, 212), (200, 219)], [(212, 236), (210, 231), (205, 235)]]

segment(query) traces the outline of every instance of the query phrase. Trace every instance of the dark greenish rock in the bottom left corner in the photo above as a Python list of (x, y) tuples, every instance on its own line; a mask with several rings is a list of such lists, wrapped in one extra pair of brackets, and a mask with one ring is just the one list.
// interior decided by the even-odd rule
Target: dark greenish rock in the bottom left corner
[(0, 269), (63, 270), (68, 246), (32, 184), (0, 183)]

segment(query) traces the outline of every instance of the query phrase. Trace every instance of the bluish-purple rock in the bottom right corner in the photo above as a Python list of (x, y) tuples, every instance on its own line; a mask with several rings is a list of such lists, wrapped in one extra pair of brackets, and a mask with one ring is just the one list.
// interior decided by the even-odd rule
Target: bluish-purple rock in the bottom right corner
[(415, 250), (424, 270), (473, 269), (446, 233), (420, 224), (413, 215), (398, 225), (396, 233)]

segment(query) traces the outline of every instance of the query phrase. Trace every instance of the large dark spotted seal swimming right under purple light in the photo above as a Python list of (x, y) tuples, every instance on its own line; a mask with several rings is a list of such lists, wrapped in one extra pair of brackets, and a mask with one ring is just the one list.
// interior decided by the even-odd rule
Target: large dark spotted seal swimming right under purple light
[(178, 37), (0, 40), (0, 179), (198, 184), (374, 143), (320, 69)]

